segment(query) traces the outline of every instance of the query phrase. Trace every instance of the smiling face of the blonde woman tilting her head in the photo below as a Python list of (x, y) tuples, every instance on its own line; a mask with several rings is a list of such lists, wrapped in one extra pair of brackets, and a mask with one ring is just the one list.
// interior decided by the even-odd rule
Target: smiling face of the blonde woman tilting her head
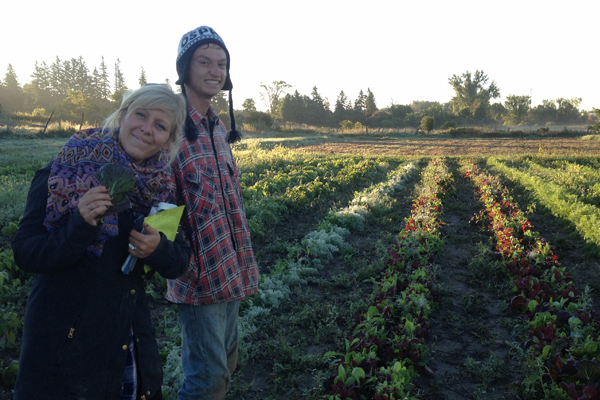
[(168, 149), (173, 118), (162, 110), (139, 108), (121, 121), (119, 140), (134, 163), (140, 165), (161, 149)]

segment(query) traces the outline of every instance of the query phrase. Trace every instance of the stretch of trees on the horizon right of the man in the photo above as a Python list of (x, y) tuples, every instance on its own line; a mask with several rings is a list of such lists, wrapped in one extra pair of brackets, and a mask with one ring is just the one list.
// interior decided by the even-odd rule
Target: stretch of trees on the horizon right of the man
[[(502, 102), (492, 103), (500, 97), (500, 88), (480, 70), (453, 75), (448, 83), (455, 95), (446, 103), (436, 101), (413, 101), (411, 104), (390, 104), (378, 108), (373, 92), (362, 90), (354, 101), (344, 91), (337, 96), (333, 110), (327, 98), (317, 87), (310, 95), (297, 90), (286, 93), (292, 86), (285, 81), (261, 84), (262, 100), (269, 114), (276, 119), (317, 126), (351, 126), (360, 123), (373, 128), (403, 128), (457, 125), (570, 125), (593, 123), (597, 120), (591, 111), (580, 110), (581, 98), (558, 98), (544, 100), (531, 107), (531, 96), (508, 95)], [(254, 105), (252, 99), (246, 105)], [(426, 121), (425, 121), (426, 120)], [(428, 130), (430, 130), (428, 128)]]

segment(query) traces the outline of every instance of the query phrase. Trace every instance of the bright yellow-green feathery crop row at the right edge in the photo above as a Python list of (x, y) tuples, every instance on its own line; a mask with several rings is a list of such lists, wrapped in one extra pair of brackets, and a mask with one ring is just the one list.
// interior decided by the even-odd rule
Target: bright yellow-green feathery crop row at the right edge
[(494, 157), (488, 158), (487, 164), (531, 191), (533, 197), (553, 215), (573, 224), (579, 235), (588, 243), (589, 250), (600, 255), (598, 207), (578, 201), (578, 197), (568, 193), (562, 185), (511, 168)]

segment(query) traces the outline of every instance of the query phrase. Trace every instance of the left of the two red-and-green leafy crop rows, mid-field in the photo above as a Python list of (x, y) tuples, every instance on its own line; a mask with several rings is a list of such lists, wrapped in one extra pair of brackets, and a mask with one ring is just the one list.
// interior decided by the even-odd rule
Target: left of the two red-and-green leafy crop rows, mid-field
[(325, 356), (340, 357), (327, 400), (416, 398), (412, 381), (422, 368), (427, 320), (438, 303), (432, 260), (443, 248), (442, 200), (452, 181), (441, 160), (433, 160), (421, 178), (370, 307), (356, 317), (343, 352)]

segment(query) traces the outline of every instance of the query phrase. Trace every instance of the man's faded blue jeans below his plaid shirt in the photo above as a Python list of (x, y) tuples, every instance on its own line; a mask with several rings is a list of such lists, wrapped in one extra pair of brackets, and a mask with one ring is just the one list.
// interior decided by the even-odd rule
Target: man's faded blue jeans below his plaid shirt
[(183, 386), (178, 400), (221, 400), (238, 359), (240, 303), (179, 304)]

